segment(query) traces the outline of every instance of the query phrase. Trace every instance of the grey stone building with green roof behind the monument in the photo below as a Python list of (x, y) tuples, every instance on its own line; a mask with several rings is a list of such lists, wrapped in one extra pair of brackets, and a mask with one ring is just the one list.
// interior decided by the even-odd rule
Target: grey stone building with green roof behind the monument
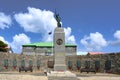
[[(30, 44), (24, 44), (22, 46), (22, 54), (26, 55), (53, 55), (53, 43), (52, 42), (36, 42)], [(76, 55), (77, 45), (65, 44), (66, 55)]]

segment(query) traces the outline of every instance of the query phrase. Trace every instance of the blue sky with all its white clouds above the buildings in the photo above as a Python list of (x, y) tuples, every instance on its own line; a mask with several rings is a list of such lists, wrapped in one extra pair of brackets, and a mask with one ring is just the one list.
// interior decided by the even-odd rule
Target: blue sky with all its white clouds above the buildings
[(0, 40), (14, 52), (21, 45), (52, 41), (61, 16), (66, 43), (80, 52), (120, 52), (120, 0), (0, 0)]

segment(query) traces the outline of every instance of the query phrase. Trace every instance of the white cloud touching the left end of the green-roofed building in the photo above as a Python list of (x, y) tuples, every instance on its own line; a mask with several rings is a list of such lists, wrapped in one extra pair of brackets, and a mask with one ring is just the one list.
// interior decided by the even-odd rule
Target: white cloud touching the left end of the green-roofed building
[(20, 53), (22, 51), (22, 45), (26, 43), (30, 43), (30, 38), (24, 33), (21, 33), (13, 37), (10, 45), (15, 53)]

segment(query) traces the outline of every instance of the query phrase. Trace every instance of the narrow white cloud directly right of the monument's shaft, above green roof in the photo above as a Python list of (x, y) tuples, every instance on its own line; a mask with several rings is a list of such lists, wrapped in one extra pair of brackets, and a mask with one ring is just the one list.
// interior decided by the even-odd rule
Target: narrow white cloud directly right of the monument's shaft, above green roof
[(70, 27), (64, 28), (66, 43), (76, 44), (74, 35), (71, 35), (72, 29)]

